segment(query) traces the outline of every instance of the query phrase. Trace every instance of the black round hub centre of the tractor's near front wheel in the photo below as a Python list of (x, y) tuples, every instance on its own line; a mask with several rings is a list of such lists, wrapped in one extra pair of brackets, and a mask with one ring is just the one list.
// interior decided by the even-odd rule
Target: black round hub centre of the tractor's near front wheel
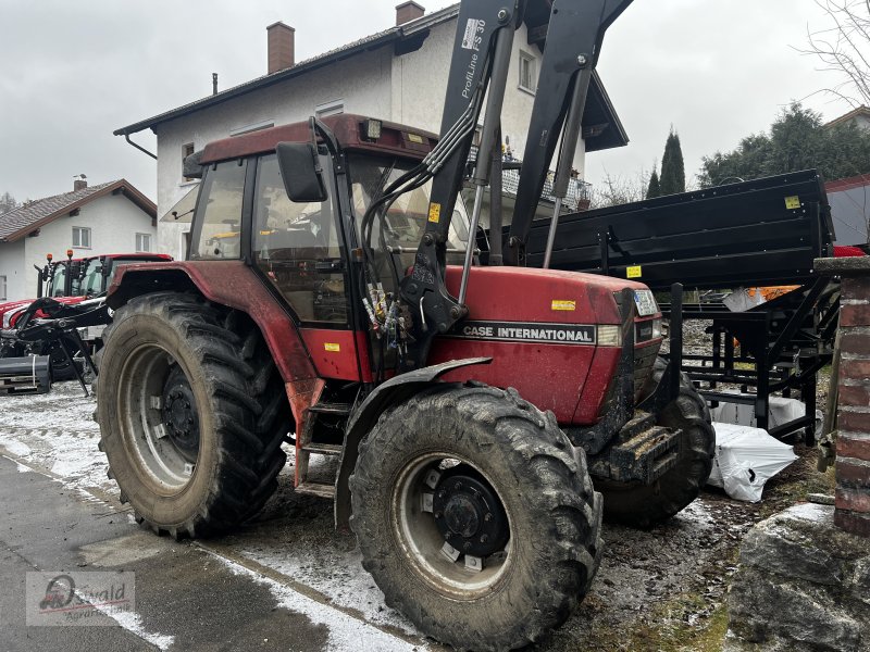
[(445, 473), (432, 501), (445, 541), (462, 553), (488, 556), (510, 537), (508, 517), (489, 485), (469, 467)]

